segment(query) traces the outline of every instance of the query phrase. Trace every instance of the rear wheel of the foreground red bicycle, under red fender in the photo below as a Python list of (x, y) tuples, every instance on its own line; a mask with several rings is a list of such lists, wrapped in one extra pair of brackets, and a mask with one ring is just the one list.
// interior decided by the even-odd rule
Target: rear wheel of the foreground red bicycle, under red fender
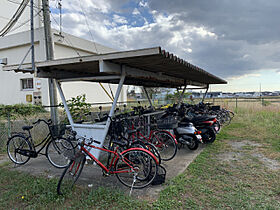
[(121, 154), (122, 158), (116, 161), (115, 172), (123, 185), (141, 189), (152, 183), (158, 172), (158, 163), (149, 151), (132, 148)]

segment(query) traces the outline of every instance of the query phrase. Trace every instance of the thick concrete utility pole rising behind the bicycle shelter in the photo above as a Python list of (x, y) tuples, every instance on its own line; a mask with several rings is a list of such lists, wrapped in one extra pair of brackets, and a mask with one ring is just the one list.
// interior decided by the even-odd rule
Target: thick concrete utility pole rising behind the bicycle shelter
[[(49, 0), (42, 0), (43, 6), (43, 17), (44, 17), (44, 31), (45, 31), (45, 47), (46, 47), (46, 59), (53, 60), (53, 42), (52, 42), (52, 32), (51, 32), (51, 21), (50, 21), (50, 8)], [(55, 125), (58, 124), (58, 114), (57, 114), (57, 93), (55, 81), (52, 78), (48, 79), (49, 82), (49, 97), (51, 105), (51, 119)]]

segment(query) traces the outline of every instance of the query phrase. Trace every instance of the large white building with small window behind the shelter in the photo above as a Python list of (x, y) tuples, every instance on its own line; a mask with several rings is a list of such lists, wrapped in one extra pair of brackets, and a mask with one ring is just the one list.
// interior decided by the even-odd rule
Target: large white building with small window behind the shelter
[[(13, 2), (16, 2), (16, 0)], [(17, 2), (21, 2), (21, 0)], [(40, 0), (37, 1), (37, 5), (39, 3)], [(0, 1), (0, 14), (2, 16), (2, 18), (0, 18), (0, 30), (8, 22), (8, 19), (13, 15), (17, 7), (18, 5), (15, 3), (8, 4), (7, 1)], [(25, 9), (24, 14), (18, 21), (19, 24), (25, 22), (26, 19), (28, 20), (29, 10), (29, 7)], [(41, 25), (40, 16), (37, 16), (37, 18), (35, 18), (36, 62), (46, 60), (45, 36), (44, 29), (40, 27)], [(17, 27), (17, 25), (14, 26), (14, 28)], [(8, 65), (20, 64), (30, 48), (30, 32), (26, 31), (28, 28), (29, 26), (22, 26), (13, 31), (11, 35), (9, 33), (9, 35), (0, 38), (0, 59), (7, 58)], [(58, 31), (52, 30), (54, 59), (116, 51), (70, 34), (62, 33), (61, 35)], [(30, 60), (30, 55), (28, 55), (24, 63), (30, 63)], [(105, 84), (104, 87), (109, 93), (111, 92), (107, 84)], [(97, 83), (65, 83), (63, 84), (63, 89), (66, 99), (85, 93), (88, 102), (111, 101)], [(112, 85), (112, 89), (114, 92), (116, 86)], [(43, 105), (49, 105), (47, 79), (34, 78), (34, 75), (29, 73), (4, 72), (2, 71), (2, 65), (0, 65), (0, 104), (34, 103), (36, 101), (38, 102), (38, 99), (41, 100)], [(126, 101), (126, 88), (123, 88), (120, 101)]]

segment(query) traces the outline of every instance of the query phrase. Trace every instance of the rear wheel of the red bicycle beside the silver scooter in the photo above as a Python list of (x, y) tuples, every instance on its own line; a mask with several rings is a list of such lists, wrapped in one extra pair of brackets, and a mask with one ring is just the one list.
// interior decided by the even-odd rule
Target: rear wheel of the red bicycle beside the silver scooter
[(158, 149), (161, 160), (164, 161), (173, 159), (178, 150), (176, 140), (167, 131), (155, 131), (151, 143)]

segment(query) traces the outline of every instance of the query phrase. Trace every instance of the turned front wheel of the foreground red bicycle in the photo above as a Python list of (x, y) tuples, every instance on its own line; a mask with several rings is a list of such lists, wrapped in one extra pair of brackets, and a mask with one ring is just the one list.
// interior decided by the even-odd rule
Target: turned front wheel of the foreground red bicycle
[(74, 184), (82, 173), (85, 162), (86, 157), (84, 154), (80, 154), (70, 162), (60, 176), (56, 189), (57, 194), (65, 195), (72, 191)]

